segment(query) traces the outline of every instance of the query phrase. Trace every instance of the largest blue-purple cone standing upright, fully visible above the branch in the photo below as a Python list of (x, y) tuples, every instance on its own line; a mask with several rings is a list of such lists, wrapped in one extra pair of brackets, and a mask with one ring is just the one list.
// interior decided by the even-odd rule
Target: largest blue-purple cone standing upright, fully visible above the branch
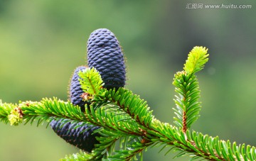
[(103, 87), (107, 89), (124, 87), (124, 55), (117, 38), (110, 30), (100, 28), (90, 34), (87, 42), (88, 66), (100, 72)]

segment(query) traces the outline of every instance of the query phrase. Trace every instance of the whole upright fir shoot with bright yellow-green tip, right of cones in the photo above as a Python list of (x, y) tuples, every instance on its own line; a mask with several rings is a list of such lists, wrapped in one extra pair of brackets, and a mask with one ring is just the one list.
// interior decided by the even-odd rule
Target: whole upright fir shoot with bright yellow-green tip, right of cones
[(174, 109), (177, 117), (174, 117), (174, 123), (183, 129), (186, 133), (199, 115), (201, 110), (200, 91), (198, 80), (195, 73), (202, 70), (208, 61), (208, 49), (196, 46), (189, 52), (188, 60), (184, 65), (184, 70), (177, 72), (174, 75), (174, 86), (178, 96), (175, 96), (174, 102), (176, 109)]

